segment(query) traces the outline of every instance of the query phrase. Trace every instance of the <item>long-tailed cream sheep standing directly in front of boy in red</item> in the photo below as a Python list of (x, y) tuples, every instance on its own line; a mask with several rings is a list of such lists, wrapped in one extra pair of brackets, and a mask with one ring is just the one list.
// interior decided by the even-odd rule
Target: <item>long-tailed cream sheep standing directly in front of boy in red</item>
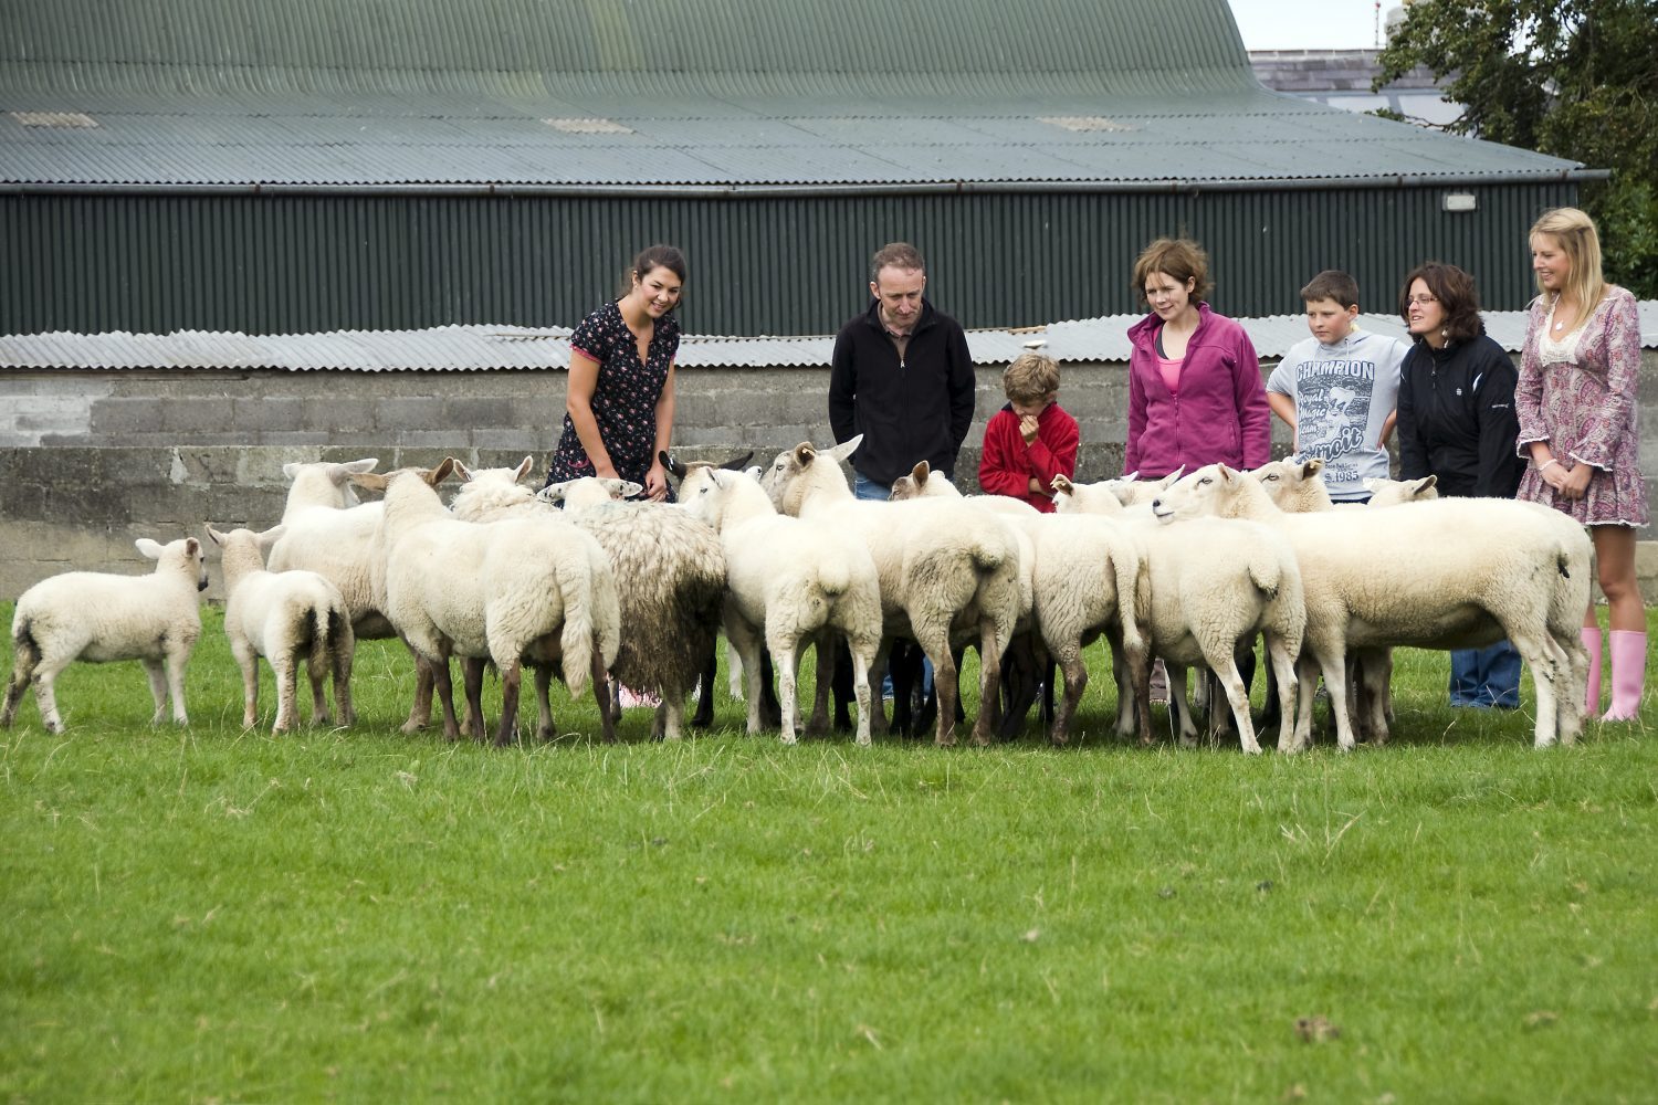
[[(892, 484), (892, 499), (924, 495), (960, 497), (960, 492), (948, 480), (932, 479), (928, 464), (922, 461)], [(1048, 736), (1053, 744), (1063, 746), (1088, 688), (1083, 648), (1108, 633), (1114, 651), (1129, 658), (1129, 668), (1146, 663), (1137, 618), (1139, 606), (1149, 601), (1144, 553), (1126, 530), (1104, 519), (1048, 515), (1006, 495), (972, 495), (965, 502), (1005, 514), (1026, 538), (1021, 555), (1030, 567), (1033, 625), (1021, 628), (1040, 635), (1064, 676), (1064, 699), (1053, 714)], [(1030, 697), (1013, 706), (1020, 716), (1028, 707)], [(1142, 731), (1151, 731), (1149, 712), (1141, 724)]]

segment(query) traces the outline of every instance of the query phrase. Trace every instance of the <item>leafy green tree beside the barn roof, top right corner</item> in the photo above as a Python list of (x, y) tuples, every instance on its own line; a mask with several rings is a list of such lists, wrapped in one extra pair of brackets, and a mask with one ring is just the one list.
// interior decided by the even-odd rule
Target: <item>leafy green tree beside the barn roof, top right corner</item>
[(1658, 0), (1416, 0), (1378, 61), (1449, 76), (1454, 134), (1612, 169), (1582, 187), (1607, 278), (1658, 298)]

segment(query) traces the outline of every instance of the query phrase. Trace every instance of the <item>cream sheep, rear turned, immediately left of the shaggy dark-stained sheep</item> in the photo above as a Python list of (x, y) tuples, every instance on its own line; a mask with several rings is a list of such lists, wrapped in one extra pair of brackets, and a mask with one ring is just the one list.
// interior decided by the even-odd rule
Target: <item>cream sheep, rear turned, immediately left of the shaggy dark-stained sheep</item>
[[(375, 532), (375, 590), (403, 638), (433, 664), (443, 701), (443, 729), (459, 737), (449, 684), (449, 656), (494, 661), (502, 701), (496, 744), (511, 744), (517, 726), (522, 664), (559, 664), (570, 694), (594, 681), (605, 741), (615, 741), (604, 673), (615, 661), (620, 606), (615, 575), (589, 533), (554, 517), (461, 522), (434, 490), (454, 469), (400, 469), (356, 479), (385, 490)], [(468, 688), (471, 692), (474, 688)], [(482, 729), (469, 694), (471, 727)], [(537, 736), (552, 736), (541, 702)]]

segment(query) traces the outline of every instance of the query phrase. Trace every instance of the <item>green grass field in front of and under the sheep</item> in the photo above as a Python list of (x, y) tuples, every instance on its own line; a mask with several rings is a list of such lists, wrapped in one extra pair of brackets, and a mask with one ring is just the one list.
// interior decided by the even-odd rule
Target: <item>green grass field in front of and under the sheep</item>
[(398, 732), (405, 668), (365, 643), (363, 724), (287, 737), (267, 674), (242, 732), (209, 611), (189, 731), (136, 664), (73, 668), (63, 737), (25, 702), (0, 1098), (1658, 1100), (1651, 709), (1535, 752), (1401, 651), (1353, 755), (1127, 747), (1103, 678), (1063, 750), (721, 697), (502, 752)]

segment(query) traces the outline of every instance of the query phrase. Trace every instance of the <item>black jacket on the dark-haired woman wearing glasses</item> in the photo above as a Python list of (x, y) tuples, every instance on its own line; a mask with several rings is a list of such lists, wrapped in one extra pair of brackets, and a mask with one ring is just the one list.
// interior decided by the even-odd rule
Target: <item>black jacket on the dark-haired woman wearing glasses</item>
[(1514, 361), (1484, 330), (1436, 350), (1418, 340), (1399, 366), (1399, 475), (1439, 477), (1441, 495), (1514, 499)]

